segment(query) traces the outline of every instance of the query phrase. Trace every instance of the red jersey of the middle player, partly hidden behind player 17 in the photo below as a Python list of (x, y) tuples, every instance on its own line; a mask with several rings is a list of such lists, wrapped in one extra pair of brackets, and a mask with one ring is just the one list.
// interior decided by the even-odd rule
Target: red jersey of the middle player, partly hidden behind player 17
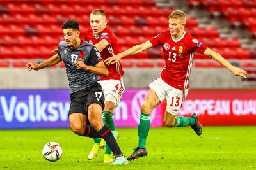
[[(85, 32), (84, 40), (88, 41), (88, 43), (95, 45), (99, 43), (102, 39), (106, 39), (109, 43), (109, 45), (102, 50), (101, 55), (102, 59), (106, 60), (109, 57), (112, 57), (113, 55), (116, 55), (119, 53), (119, 45), (117, 38), (115, 34), (109, 29), (109, 27), (106, 27), (102, 30), (100, 35), (98, 37), (95, 37), (93, 34), (92, 29), (88, 29)], [(124, 71), (122, 69), (122, 65), (117, 62), (116, 64), (110, 64), (109, 66), (106, 66), (109, 72), (108, 77), (100, 76), (100, 80), (109, 80), (109, 79), (115, 79), (120, 80), (122, 76), (124, 75)]]

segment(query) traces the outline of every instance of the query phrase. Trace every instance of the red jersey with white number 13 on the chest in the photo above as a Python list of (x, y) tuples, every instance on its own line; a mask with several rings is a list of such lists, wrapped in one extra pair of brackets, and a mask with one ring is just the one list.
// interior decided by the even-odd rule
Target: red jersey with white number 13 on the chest
[(207, 46), (186, 31), (177, 40), (170, 31), (165, 31), (150, 39), (150, 42), (153, 46), (163, 46), (165, 66), (160, 73), (163, 81), (176, 89), (187, 89), (194, 54), (204, 53)]

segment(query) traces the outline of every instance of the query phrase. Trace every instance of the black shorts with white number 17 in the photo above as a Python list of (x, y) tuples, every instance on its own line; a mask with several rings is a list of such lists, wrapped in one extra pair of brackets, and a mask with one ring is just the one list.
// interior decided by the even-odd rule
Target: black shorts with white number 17
[(72, 113), (83, 113), (88, 116), (88, 107), (90, 104), (97, 103), (104, 109), (104, 94), (102, 87), (96, 83), (91, 89), (83, 89), (70, 94), (70, 108), (68, 115)]

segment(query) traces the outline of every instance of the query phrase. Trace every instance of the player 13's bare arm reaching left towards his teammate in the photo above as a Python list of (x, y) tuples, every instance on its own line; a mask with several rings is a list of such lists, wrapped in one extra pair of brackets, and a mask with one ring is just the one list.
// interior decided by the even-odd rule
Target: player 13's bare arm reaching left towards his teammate
[(120, 59), (122, 59), (124, 57), (136, 55), (136, 54), (141, 53), (141, 52), (143, 52), (149, 48), (152, 48), (152, 47), (153, 47), (152, 43), (150, 43), (150, 41), (147, 41), (143, 44), (132, 46), (132, 48), (129, 48), (128, 50), (125, 50), (122, 53), (118, 53), (117, 55), (115, 55), (113, 57), (109, 57), (104, 62), (105, 62), (105, 64), (108, 64), (108, 65), (115, 64), (116, 62), (118, 62)]

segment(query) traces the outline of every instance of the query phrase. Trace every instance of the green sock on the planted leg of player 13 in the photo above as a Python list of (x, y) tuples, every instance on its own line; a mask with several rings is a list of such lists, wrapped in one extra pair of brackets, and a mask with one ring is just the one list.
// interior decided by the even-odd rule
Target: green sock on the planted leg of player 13
[(150, 115), (140, 113), (140, 123), (138, 125), (139, 145), (140, 148), (146, 147), (146, 139), (150, 128)]

